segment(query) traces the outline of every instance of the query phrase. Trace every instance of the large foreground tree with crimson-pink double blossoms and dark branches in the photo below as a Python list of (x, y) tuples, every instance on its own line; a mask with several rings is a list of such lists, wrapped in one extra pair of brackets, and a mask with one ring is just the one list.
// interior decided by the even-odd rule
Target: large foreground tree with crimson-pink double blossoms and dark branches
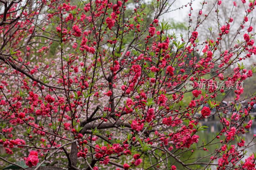
[[(214, 9), (218, 17), (221, 1), (202, 2), (199, 11), (194, 1), (177, 9), (175, 0), (129, 1), (0, 0), (1, 165), (20, 160), (39, 169), (61, 160), (59, 166), (74, 170), (254, 169), (254, 154), (244, 151), (255, 136), (245, 141), (241, 134), (251, 128), (256, 98), (240, 95), (255, 72), (241, 61), (256, 54), (248, 19), (256, 2), (239, 1), (244, 19), (230, 14), (218, 23), (217, 39), (200, 42), (197, 27)], [(160, 22), (180, 8), (190, 11), (185, 36)], [(231, 22), (241, 24), (223, 49)], [(230, 87), (236, 95), (223, 107)], [(244, 100), (249, 107), (239, 104)], [(199, 144), (207, 128), (199, 121), (214, 115), (222, 130)], [(214, 152), (193, 155), (216, 143)], [(185, 153), (192, 163), (181, 159)]]

